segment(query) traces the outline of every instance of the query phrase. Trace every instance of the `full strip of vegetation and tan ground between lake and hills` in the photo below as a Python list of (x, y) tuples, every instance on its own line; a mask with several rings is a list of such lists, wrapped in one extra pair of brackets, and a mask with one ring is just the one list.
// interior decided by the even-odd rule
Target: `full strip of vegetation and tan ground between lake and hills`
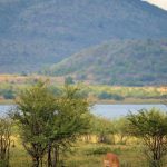
[[(46, 78), (45, 76), (40, 76)], [(7, 79), (6, 79), (7, 78)], [(39, 78), (33, 76), (0, 76), (0, 97), (2, 98), (16, 98), (20, 91), (35, 85)], [(57, 78), (50, 78), (51, 85), (49, 86), (49, 91), (55, 96), (60, 96), (62, 94), (62, 86), (56, 85)], [(73, 85), (75, 86), (75, 85)], [(90, 100), (107, 100), (107, 101), (128, 101), (128, 102), (157, 102), (166, 99), (167, 88), (166, 86), (159, 87), (117, 87), (117, 86), (106, 86), (106, 85), (79, 85), (80, 90), (78, 94), (82, 98), (89, 98)]]

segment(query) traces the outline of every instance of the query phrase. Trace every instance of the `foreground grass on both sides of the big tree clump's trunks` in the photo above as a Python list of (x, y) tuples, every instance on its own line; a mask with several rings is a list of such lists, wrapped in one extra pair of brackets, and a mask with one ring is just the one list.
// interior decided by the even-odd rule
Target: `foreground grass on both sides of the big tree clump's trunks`
[[(61, 160), (67, 167), (101, 167), (106, 153), (111, 151), (118, 155), (121, 167), (147, 167), (145, 156), (140, 147), (136, 145), (106, 145), (77, 143), (71, 153), (62, 154)], [(21, 143), (18, 141), (11, 148), (11, 167), (30, 167), (31, 159), (24, 151)]]

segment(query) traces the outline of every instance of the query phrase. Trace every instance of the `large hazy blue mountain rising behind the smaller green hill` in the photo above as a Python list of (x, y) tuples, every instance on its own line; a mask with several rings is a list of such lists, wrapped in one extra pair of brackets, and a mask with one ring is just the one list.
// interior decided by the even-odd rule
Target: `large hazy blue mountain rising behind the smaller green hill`
[(167, 38), (166, 20), (140, 0), (1, 0), (0, 73), (37, 71), (111, 39)]

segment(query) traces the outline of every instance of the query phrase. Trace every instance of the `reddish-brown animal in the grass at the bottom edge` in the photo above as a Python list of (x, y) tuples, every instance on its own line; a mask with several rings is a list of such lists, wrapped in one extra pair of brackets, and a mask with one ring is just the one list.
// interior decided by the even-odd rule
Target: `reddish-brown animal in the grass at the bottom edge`
[(111, 153), (108, 153), (104, 159), (104, 167), (119, 167), (118, 156)]

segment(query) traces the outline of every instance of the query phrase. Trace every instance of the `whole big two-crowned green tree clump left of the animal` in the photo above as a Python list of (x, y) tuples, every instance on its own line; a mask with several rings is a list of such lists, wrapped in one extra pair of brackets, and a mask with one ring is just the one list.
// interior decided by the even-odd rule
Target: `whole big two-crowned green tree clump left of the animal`
[(46, 154), (48, 167), (56, 167), (60, 149), (69, 148), (89, 128), (89, 104), (78, 91), (66, 85), (62, 94), (55, 97), (40, 81), (19, 96), (13, 118), (19, 122), (33, 167), (42, 166)]

